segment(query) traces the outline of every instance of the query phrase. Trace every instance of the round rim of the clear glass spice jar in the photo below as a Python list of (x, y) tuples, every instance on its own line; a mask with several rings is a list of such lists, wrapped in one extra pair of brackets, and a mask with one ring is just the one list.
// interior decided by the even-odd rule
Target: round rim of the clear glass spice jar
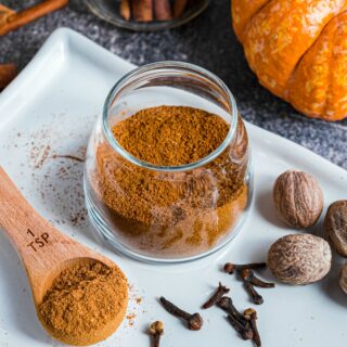
[[(112, 103), (113, 103), (115, 97), (117, 95), (117, 93), (120, 92), (121, 89), (127, 85), (127, 82), (129, 80), (131, 80), (134, 76), (141, 75), (144, 73), (149, 73), (149, 72), (155, 73), (157, 69), (160, 69), (160, 68), (163, 68), (163, 69), (167, 69), (167, 68), (180, 69), (182, 72), (189, 72), (189, 73), (193, 73), (195, 75), (200, 75), (205, 78), (208, 78), (210, 81), (213, 81), (219, 88), (221, 88), (226, 92), (226, 95), (228, 98), (227, 101), (229, 102), (229, 104), (231, 106), (230, 129), (229, 129), (224, 140), (221, 142), (221, 144), (215, 151), (210, 152), (208, 155), (206, 155), (205, 157), (203, 157), (196, 162), (183, 164), (183, 165), (179, 165), (179, 166), (162, 166), (162, 165), (154, 165), (154, 164), (141, 160), (141, 159), (137, 158), (136, 156), (131, 155), (129, 152), (127, 152), (120, 145), (120, 143), (114, 137), (112, 129), (110, 128), (108, 111), (110, 111)], [(104, 134), (105, 134), (108, 143), (111, 144), (111, 146), (118, 154), (120, 154), (128, 162), (130, 162), (137, 166), (140, 166), (141, 168), (146, 168), (146, 169), (155, 170), (155, 171), (165, 171), (165, 172), (188, 171), (188, 170), (196, 169), (198, 167), (202, 167), (202, 166), (213, 162), (227, 149), (227, 146), (229, 145), (229, 143), (231, 142), (231, 140), (234, 137), (236, 126), (237, 126), (237, 105), (236, 105), (236, 101), (235, 101), (233, 94), (231, 93), (231, 91), (229, 90), (227, 85), (219, 77), (217, 77), (215, 74), (210, 73), (209, 70), (207, 70), (203, 67), (200, 67), (194, 64), (184, 63), (184, 62), (177, 62), (177, 61), (163, 61), (163, 62), (146, 64), (146, 65), (137, 67), (137, 68), (132, 69), (131, 72), (129, 72), (128, 74), (126, 74), (125, 76), (123, 76), (116, 82), (116, 85), (111, 89), (111, 91), (105, 100), (105, 103), (103, 106), (103, 114), (102, 114), (102, 127), (103, 127)]]

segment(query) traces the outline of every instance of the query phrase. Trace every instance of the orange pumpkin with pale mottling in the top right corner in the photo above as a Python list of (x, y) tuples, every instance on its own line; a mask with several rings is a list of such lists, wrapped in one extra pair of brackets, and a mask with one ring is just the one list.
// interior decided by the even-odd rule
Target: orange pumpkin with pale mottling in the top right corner
[(309, 117), (347, 117), (347, 0), (232, 0), (260, 83)]

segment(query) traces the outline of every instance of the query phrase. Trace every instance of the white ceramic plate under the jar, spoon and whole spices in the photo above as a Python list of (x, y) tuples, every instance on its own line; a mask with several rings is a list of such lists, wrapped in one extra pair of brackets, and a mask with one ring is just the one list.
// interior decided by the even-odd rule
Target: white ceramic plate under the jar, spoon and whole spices
[[(188, 331), (166, 313), (157, 297), (166, 296), (195, 312), (219, 281), (231, 286), (236, 307), (252, 307), (242, 284), (220, 271), (230, 260), (265, 260), (270, 244), (291, 233), (275, 216), (271, 189), (278, 175), (298, 168), (316, 175), (330, 203), (347, 197), (347, 172), (304, 147), (247, 125), (255, 166), (255, 201), (240, 235), (222, 252), (191, 264), (154, 266), (113, 253), (86, 218), (82, 156), (97, 115), (115, 81), (133, 66), (79, 34), (55, 31), (33, 62), (0, 94), (0, 164), (28, 201), (62, 232), (112, 258), (130, 283), (128, 318), (100, 346), (149, 346), (153, 320), (163, 320), (163, 346), (248, 346), (211, 308), (203, 312), (201, 332)], [(325, 209), (324, 209), (325, 213)], [(312, 230), (321, 233), (322, 218)], [(293, 231), (298, 232), (298, 231)], [(261, 290), (257, 307), (266, 347), (344, 346), (347, 338), (347, 296), (337, 284), (343, 259), (334, 255), (324, 281), (304, 287), (278, 284)], [(264, 278), (271, 280), (268, 272)], [(15, 250), (0, 233), (0, 346), (59, 346), (38, 323), (28, 283)]]

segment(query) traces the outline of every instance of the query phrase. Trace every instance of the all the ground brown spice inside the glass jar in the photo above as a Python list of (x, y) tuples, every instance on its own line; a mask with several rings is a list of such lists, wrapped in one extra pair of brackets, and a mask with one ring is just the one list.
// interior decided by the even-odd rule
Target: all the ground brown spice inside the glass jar
[(139, 111), (113, 126), (114, 138), (133, 157), (167, 170), (136, 165), (108, 142), (97, 147), (90, 182), (117, 241), (156, 257), (188, 257), (222, 242), (247, 205), (248, 141), (239, 117), (232, 141), (217, 157), (187, 170), (218, 150), (230, 125), (185, 106)]

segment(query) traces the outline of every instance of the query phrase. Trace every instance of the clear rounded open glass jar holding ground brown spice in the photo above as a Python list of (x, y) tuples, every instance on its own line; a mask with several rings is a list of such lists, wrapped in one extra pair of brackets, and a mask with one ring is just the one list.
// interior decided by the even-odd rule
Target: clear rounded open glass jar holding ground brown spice
[[(125, 151), (112, 128), (140, 110), (190, 106), (223, 118), (217, 150), (182, 166), (156, 166)], [(247, 132), (228, 87), (180, 62), (150, 64), (112, 88), (91, 134), (85, 168), (89, 216), (117, 249), (142, 260), (209, 255), (241, 230), (253, 187)]]

